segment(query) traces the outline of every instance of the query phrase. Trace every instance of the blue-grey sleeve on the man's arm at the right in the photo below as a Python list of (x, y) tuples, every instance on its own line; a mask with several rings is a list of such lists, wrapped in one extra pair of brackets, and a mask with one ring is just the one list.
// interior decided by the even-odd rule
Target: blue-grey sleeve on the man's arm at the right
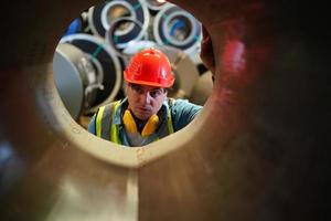
[(180, 130), (190, 124), (201, 109), (202, 106), (186, 99), (175, 99), (171, 107), (174, 130)]

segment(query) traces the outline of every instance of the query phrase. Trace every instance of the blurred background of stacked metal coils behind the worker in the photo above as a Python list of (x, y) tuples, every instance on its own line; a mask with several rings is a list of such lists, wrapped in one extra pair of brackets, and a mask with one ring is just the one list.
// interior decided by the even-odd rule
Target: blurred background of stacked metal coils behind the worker
[(84, 10), (64, 30), (53, 57), (54, 81), (71, 116), (87, 128), (99, 106), (124, 98), (130, 57), (157, 48), (170, 59), (170, 97), (204, 105), (212, 74), (200, 59), (201, 23), (164, 0), (110, 0)]

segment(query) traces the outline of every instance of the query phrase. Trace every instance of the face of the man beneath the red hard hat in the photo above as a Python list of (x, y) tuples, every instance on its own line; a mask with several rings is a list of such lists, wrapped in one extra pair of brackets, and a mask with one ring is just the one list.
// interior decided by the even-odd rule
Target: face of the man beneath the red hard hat
[(127, 84), (126, 93), (129, 102), (128, 108), (142, 120), (157, 114), (167, 98), (164, 88), (140, 84)]

